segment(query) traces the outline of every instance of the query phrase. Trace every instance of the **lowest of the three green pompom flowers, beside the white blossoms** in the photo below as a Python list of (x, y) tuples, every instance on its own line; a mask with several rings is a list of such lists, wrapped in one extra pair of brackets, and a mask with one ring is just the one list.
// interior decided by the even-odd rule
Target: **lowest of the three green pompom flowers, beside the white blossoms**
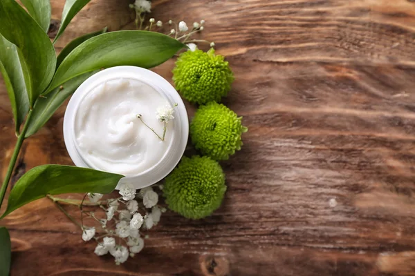
[(165, 179), (163, 192), (171, 210), (189, 219), (201, 219), (221, 206), (225, 190), (221, 166), (209, 157), (196, 155), (183, 157)]

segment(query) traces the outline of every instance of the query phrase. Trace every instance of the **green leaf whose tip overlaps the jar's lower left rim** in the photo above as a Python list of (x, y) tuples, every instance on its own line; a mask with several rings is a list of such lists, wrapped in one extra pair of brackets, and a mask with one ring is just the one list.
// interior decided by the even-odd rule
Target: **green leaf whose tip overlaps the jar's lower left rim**
[(124, 176), (90, 168), (43, 165), (26, 172), (10, 191), (3, 217), (46, 195), (66, 193), (111, 193)]

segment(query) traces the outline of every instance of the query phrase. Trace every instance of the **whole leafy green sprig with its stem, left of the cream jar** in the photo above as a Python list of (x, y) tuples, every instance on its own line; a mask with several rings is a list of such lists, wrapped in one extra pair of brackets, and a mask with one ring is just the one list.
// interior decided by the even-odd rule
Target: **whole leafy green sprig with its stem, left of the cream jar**
[[(22, 0), (30, 14), (15, 0), (0, 1), (0, 72), (6, 82), (17, 135), (0, 189), (0, 207), (24, 140), (46, 124), (65, 99), (89, 77), (88, 74), (125, 64), (151, 68), (185, 48), (180, 41), (156, 32), (106, 32), (104, 29), (75, 39), (57, 58), (53, 44), (89, 1), (66, 1), (62, 23), (53, 43), (46, 34), (50, 23), (49, 0)], [(8, 207), (2, 217), (47, 195), (110, 193), (121, 177), (74, 166), (35, 167), (26, 172), (10, 191)], [(7, 229), (3, 229), (2, 233), (8, 233)], [(0, 246), (6, 244), (3, 241), (6, 237), (8, 239), (8, 235), (1, 235)], [(8, 242), (10, 244), (10, 239)], [(0, 264), (8, 267), (10, 249), (0, 254)], [(3, 273), (3, 270), (0, 272)]]

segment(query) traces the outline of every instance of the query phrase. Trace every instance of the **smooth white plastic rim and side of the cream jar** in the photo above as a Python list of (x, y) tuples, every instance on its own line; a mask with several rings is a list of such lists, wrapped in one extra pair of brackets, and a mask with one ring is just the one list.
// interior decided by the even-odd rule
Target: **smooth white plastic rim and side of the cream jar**
[(154, 88), (160, 95), (163, 95), (165, 99), (169, 101), (171, 106), (174, 106), (174, 103), (178, 103), (178, 106), (175, 108), (174, 128), (172, 130), (174, 131), (174, 141), (170, 143), (165, 155), (156, 165), (140, 172), (138, 175), (120, 179), (117, 186), (117, 188), (119, 188), (120, 185), (129, 183), (137, 189), (144, 188), (160, 181), (174, 169), (183, 155), (187, 144), (187, 137), (189, 135), (189, 121), (181, 97), (167, 80), (163, 79), (163, 77), (160, 77), (160, 75), (157, 75), (155, 72), (134, 66), (118, 66), (102, 70), (89, 77), (89, 79), (86, 79), (86, 81), (77, 88), (66, 108), (64, 117), (64, 140), (66, 149), (76, 166), (93, 168), (91, 164), (88, 164), (86, 158), (82, 156), (82, 152), (78, 150), (75, 139), (75, 117), (84, 96), (101, 83), (113, 79), (136, 79), (142, 81)]

